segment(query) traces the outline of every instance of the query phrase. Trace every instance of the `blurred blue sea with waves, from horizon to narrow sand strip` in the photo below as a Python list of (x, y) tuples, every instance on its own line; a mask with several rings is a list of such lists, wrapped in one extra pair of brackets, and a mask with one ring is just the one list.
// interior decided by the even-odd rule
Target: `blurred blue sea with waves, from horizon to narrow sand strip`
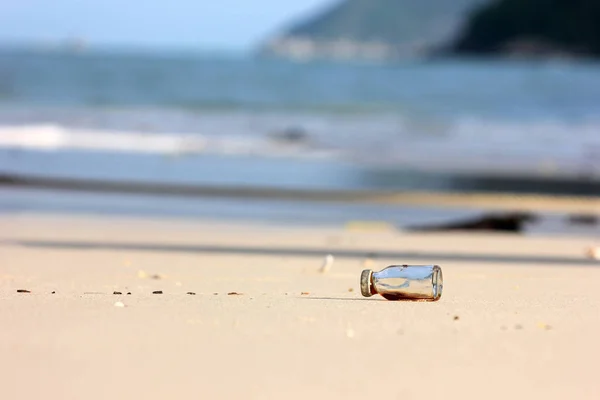
[(600, 64), (4, 49), (0, 173), (597, 194)]

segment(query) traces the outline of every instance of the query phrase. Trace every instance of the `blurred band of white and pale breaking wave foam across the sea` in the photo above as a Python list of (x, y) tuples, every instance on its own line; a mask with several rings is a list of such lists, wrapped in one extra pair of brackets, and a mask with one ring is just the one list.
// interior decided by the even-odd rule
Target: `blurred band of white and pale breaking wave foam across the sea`
[(336, 157), (429, 172), (600, 180), (600, 121), (509, 123), (464, 118), (435, 125), (434, 131), (420, 131), (402, 119), (394, 124), (374, 119), (333, 122), (309, 124), (307, 139), (299, 142), (238, 131), (150, 134), (58, 125), (4, 126), (0, 147), (173, 156)]

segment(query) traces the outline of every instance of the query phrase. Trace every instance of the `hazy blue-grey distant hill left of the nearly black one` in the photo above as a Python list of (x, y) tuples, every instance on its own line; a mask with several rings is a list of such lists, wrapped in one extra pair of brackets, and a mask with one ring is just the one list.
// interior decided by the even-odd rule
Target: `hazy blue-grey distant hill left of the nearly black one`
[(464, 15), (489, 0), (344, 0), (265, 43), (265, 54), (298, 59), (387, 60), (446, 43)]

